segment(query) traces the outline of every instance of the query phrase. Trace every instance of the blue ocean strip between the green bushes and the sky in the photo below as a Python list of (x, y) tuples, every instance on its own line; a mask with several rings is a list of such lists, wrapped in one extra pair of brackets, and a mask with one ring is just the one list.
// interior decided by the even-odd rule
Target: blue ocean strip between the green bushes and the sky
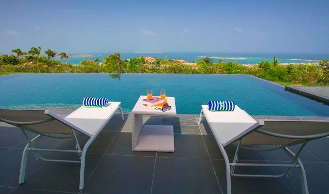
[[(104, 57), (109, 56), (113, 52), (108, 53), (67, 53), (70, 55), (90, 54), (93, 59), (99, 58), (103, 62)], [(306, 54), (306, 53), (274, 53), (279, 63), (317, 63), (323, 59), (329, 59), (329, 54)], [(204, 56), (213, 58), (216, 63), (219, 59), (224, 62), (236, 62), (238, 64), (250, 64), (256, 65), (261, 60), (273, 60), (273, 54), (271, 53), (219, 53), (219, 52), (156, 52), (156, 53), (142, 53), (142, 52), (120, 52), (122, 59), (132, 59), (137, 56), (152, 58), (167, 58), (167, 59), (183, 59), (188, 62), (197, 62)], [(59, 57), (55, 57), (59, 60)], [(76, 57), (69, 58), (68, 62), (78, 65), (82, 60), (88, 60), (89, 57)], [(65, 62), (65, 60), (62, 60)]]

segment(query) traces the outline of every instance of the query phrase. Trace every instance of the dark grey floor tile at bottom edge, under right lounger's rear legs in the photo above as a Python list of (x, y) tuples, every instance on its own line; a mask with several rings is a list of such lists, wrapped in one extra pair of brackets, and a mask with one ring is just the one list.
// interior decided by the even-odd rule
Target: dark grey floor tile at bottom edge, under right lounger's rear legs
[[(240, 162), (244, 162), (243, 160)], [(248, 161), (251, 163), (251, 161)], [(226, 171), (224, 160), (212, 160), (223, 193), (226, 193)], [(239, 174), (275, 174), (271, 168), (237, 167)], [(280, 178), (231, 177), (232, 194), (292, 194)]]

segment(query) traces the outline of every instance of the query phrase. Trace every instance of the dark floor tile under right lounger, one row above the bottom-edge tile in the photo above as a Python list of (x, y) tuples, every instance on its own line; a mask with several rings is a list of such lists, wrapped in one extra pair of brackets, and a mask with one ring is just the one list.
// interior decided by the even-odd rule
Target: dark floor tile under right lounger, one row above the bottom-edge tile
[[(203, 135), (209, 155), (211, 159), (224, 159), (222, 152), (220, 151), (217, 142), (213, 135)], [(228, 159), (233, 160), (237, 146), (228, 145), (224, 147)], [(249, 151), (246, 149), (239, 149), (238, 158), (240, 160), (264, 160), (259, 152)]]

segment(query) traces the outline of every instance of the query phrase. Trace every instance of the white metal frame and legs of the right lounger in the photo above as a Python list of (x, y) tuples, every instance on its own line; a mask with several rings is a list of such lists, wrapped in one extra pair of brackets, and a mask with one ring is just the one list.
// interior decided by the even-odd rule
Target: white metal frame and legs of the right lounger
[[(199, 124), (201, 123), (201, 120), (202, 120), (202, 114), (204, 114), (203, 109), (201, 110), (201, 113), (200, 113), (200, 117), (199, 117), (199, 121), (198, 121)], [(323, 132), (320, 134), (314, 134), (314, 135), (303, 135), (303, 136), (285, 135), (285, 134), (279, 134), (279, 133), (274, 133), (274, 132), (259, 129), (265, 125), (263, 120), (258, 121), (258, 124), (259, 124), (259, 126), (256, 127), (253, 131), (262, 133), (264, 135), (269, 135), (272, 137), (279, 137), (279, 138), (284, 138), (284, 139), (298, 139), (301, 141), (301, 146), (300, 146), (299, 150), (297, 151), (297, 153), (294, 153), (293, 151), (291, 151), (290, 149), (287, 148), (287, 146), (292, 146), (292, 145), (296, 145), (296, 144), (277, 145), (275, 147), (263, 148), (263, 149), (262, 148), (253, 148), (253, 147), (241, 146), (241, 141), (243, 139), (243, 137), (242, 137), (236, 141), (238, 143), (238, 145), (237, 145), (237, 149), (235, 151), (233, 162), (229, 162), (229, 159), (228, 159), (228, 156), (224, 149), (223, 144), (220, 142), (220, 140), (218, 138), (215, 138), (217, 145), (219, 146), (219, 149), (224, 157), (225, 168), (226, 168), (226, 193), (231, 194), (231, 176), (232, 177), (282, 178), (284, 176), (289, 177), (289, 175), (291, 174), (291, 172), (294, 168), (299, 168), (302, 194), (309, 194), (306, 173), (305, 173), (303, 164), (299, 160), (299, 154), (309, 141), (327, 137), (327, 136), (329, 136), (329, 131)], [(238, 163), (239, 148), (248, 149), (248, 150), (252, 150), (252, 151), (272, 151), (272, 150), (282, 149), (284, 151), (284, 153), (286, 153), (291, 158), (291, 161), (289, 162), (289, 164)], [(236, 174), (236, 173), (234, 173), (234, 171), (237, 166), (286, 167), (287, 169), (285, 170), (284, 173), (282, 173), (280, 175)]]

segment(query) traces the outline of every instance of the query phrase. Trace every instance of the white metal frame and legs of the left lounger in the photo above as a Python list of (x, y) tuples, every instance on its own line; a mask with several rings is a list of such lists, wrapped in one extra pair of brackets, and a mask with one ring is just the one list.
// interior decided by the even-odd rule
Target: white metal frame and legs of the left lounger
[[(112, 118), (112, 116), (117, 112), (120, 111), (121, 114), (121, 119), (124, 120), (124, 116), (122, 113), (122, 109), (120, 106), (118, 106), (118, 108), (112, 113), (112, 115), (110, 116), (110, 118)], [(0, 117), (0, 121), (8, 123), (10, 125), (13, 125), (15, 127), (18, 127), (19, 129), (21, 129), (26, 137), (26, 139), (28, 140), (28, 144), (25, 146), (23, 154), (22, 154), (22, 161), (21, 161), (21, 165), (20, 165), (20, 173), (19, 173), (19, 180), (18, 183), (19, 184), (23, 184), (24, 180), (25, 180), (25, 170), (26, 170), (26, 163), (27, 163), (27, 157), (28, 157), (28, 151), (31, 151), (32, 154), (34, 155), (34, 157), (36, 158), (36, 160), (38, 160), (39, 158), (43, 161), (47, 161), (47, 162), (74, 162), (74, 163), (80, 163), (80, 182), (79, 182), (79, 189), (82, 190), (84, 187), (84, 177), (85, 177), (85, 163), (86, 163), (86, 154), (87, 154), (87, 149), (89, 148), (89, 146), (91, 145), (91, 143), (96, 139), (96, 137), (98, 136), (98, 134), (103, 130), (103, 128), (100, 128), (99, 130), (97, 130), (95, 133), (92, 134), (92, 136), (90, 137), (90, 139), (86, 142), (86, 144), (83, 146), (83, 149), (81, 149), (79, 141), (77, 139), (77, 135), (75, 134), (75, 129), (74, 127), (72, 127), (72, 125), (69, 125), (67, 121), (65, 121), (63, 118), (57, 116), (56, 114), (45, 110), (45, 114), (51, 116), (52, 118), (48, 118), (48, 119), (44, 119), (44, 120), (39, 120), (39, 121), (31, 121), (31, 122), (17, 122), (17, 121), (11, 121), (11, 120), (7, 120), (4, 118)], [(53, 120), (58, 120), (61, 123), (71, 127), (72, 130), (72, 135), (70, 134), (62, 134), (63, 136), (52, 136), (50, 134), (46, 134), (46, 133), (39, 133), (37, 131), (33, 131), (31, 129), (24, 129), (24, 126), (26, 125), (36, 125), (36, 124), (41, 124), (41, 123), (46, 123), (46, 122), (50, 122)], [(38, 135), (36, 137), (34, 137), (33, 139), (30, 139), (29, 136), (26, 134), (25, 130), (30, 130), (32, 132), (37, 133)], [(79, 135), (84, 135), (83, 133), (79, 134)], [(76, 146), (75, 149), (76, 150), (67, 150), (67, 149), (41, 149), (41, 148), (36, 148), (34, 146), (34, 142), (38, 139), (40, 139), (42, 136), (47, 136), (47, 137), (52, 137), (52, 138), (75, 138), (75, 142), (76, 142)], [(39, 152), (64, 152), (64, 153), (77, 153), (79, 160), (77, 161), (71, 161), (71, 160), (54, 160), (54, 159), (45, 159), (44, 157), (42, 157), (40, 155)]]

